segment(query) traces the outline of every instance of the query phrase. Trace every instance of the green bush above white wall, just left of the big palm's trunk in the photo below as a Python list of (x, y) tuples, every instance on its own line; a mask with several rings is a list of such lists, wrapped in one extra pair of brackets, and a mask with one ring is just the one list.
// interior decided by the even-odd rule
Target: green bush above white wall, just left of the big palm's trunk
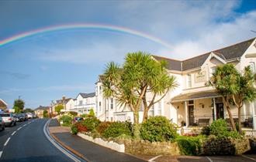
[(127, 127), (126, 123), (121, 122), (113, 122), (110, 126), (103, 131), (102, 136), (109, 138), (109, 137), (119, 137), (121, 135), (131, 136), (132, 132), (129, 127)]

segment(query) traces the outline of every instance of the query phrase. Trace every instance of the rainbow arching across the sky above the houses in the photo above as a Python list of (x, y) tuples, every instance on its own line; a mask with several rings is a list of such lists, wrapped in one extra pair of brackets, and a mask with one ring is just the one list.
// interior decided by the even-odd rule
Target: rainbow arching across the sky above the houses
[(154, 37), (152, 35), (148, 35), (144, 32), (139, 32), (133, 29), (128, 29), (128, 28), (116, 26), (116, 25), (88, 24), (88, 23), (54, 25), (54, 26), (49, 26), (42, 29), (35, 29), (28, 32), (22, 32), (18, 35), (13, 35), (12, 37), (9, 37), (7, 39), (0, 40), (0, 47), (5, 46), (6, 44), (9, 44), (12, 42), (16, 42), (20, 39), (26, 39), (33, 35), (39, 35), (47, 32), (57, 32), (57, 31), (68, 30), (68, 29), (99, 29), (99, 30), (109, 30), (112, 32), (123, 32), (130, 35), (140, 36), (144, 39), (149, 39), (150, 41), (157, 42), (161, 46), (165, 46), (168, 49), (171, 49), (171, 46), (167, 42), (164, 42), (163, 40), (158, 39), (157, 37)]

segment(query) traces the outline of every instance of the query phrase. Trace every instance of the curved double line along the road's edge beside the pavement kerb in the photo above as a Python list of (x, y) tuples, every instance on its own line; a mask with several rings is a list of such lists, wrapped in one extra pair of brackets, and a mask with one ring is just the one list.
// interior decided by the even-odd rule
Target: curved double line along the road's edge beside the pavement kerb
[(70, 157), (72, 160), (76, 161), (76, 162), (81, 162), (80, 160), (78, 160), (76, 157), (74, 157), (72, 154), (68, 153), (67, 150), (64, 150), (61, 146), (59, 146), (53, 139), (52, 137), (50, 137), (49, 135), (49, 130), (47, 130), (47, 124), (50, 123), (50, 120), (47, 121), (47, 123), (44, 124), (43, 127), (43, 133), (44, 135), (47, 137), (47, 139), (50, 141), (50, 143), (54, 144), (54, 147), (57, 147), (58, 150), (61, 150), (61, 152), (65, 155), (67, 155), (67, 157)]

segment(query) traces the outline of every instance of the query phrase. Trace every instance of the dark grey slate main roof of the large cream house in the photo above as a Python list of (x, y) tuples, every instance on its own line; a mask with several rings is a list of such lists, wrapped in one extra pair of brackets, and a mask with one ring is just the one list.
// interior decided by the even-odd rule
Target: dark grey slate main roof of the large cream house
[[(223, 49), (216, 49), (211, 52), (219, 56), (221, 59), (229, 60), (229, 59), (236, 59), (243, 56), (244, 52), (251, 46), (251, 43), (254, 42), (254, 39), (249, 39), (244, 42), (239, 42), (232, 46), (224, 47)], [(168, 62), (167, 68), (170, 70), (178, 70), (178, 71), (185, 71), (188, 69), (195, 69), (202, 66), (202, 64), (206, 61), (209, 57), (211, 52), (207, 52), (205, 54), (192, 57), (190, 59), (185, 60), (175, 60), (175, 59), (168, 59), (161, 56), (153, 56), (154, 59), (159, 61), (165, 60)]]

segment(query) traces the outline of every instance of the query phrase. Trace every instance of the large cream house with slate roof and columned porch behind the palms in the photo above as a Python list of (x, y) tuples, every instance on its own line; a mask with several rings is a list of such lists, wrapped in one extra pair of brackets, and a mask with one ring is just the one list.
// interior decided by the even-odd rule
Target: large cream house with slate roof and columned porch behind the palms
[[(240, 72), (245, 66), (251, 66), (255, 73), (256, 43), (255, 38), (249, 39), (185, 60), (161, 56), (152, 56), (152, 58), (168, 62), (168, 73), (176, 77), (179, 86), (164, 96), (159, 103), (154, 104), (149, 116), (166, 116), (179, 126), (203, 126), (220, 118), (229, 121), (221, 96), (213, 87), (205, 86), (205, 83), (212, 76), (216, 66), (227, 63), (234, 64)], [(96, 112), (99, 119), (133, 121), (133, 112), (129, 107), (120, 107), (114, 98), (106, 99), (103, 96), (102, 79), (104, 76), (100, 75), (95, 83)], [(256, 101), (244, 103), (241, 115), (244, 127), (254, 127), (254, 130), (256, 130), (256, 120), (253, 120), (256, 119), (255, 108)], [(231, 112), (236, 120), (235, 106), (231, 107)], [(142, 116), (140, 111), (140, 121)]]

